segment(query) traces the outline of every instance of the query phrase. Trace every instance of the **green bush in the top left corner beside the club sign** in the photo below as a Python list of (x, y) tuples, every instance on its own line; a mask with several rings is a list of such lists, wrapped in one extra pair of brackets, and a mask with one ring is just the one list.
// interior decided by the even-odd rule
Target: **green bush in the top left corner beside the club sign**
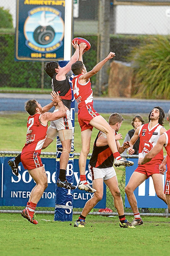
[(12, 15), (4, 7), (0, 7), (0, 28), (13, 28)]

